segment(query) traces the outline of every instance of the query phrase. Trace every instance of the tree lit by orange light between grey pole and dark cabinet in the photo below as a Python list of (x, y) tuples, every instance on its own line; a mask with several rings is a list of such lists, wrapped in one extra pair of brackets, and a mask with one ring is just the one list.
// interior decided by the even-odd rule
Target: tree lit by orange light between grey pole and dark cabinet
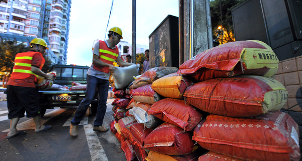
[[(232, 9), (234, 9), (237, 5), (243, 3), (244, 1), (246, 0), (210, 1), (212, 33), (213, 33), (214, 41), (219, 42), (219, 44), (221, 44), (221, 35), (223, 35), (222, 43), (235, 41), (233, 20), (232, 20)], [(220, 3), (221, 3), (221, 13), (220, 13)], [(221, 24), (221, 16), (222, 16), (222, 24)], [(223, 34), (221, 34), (221, 28)]]

